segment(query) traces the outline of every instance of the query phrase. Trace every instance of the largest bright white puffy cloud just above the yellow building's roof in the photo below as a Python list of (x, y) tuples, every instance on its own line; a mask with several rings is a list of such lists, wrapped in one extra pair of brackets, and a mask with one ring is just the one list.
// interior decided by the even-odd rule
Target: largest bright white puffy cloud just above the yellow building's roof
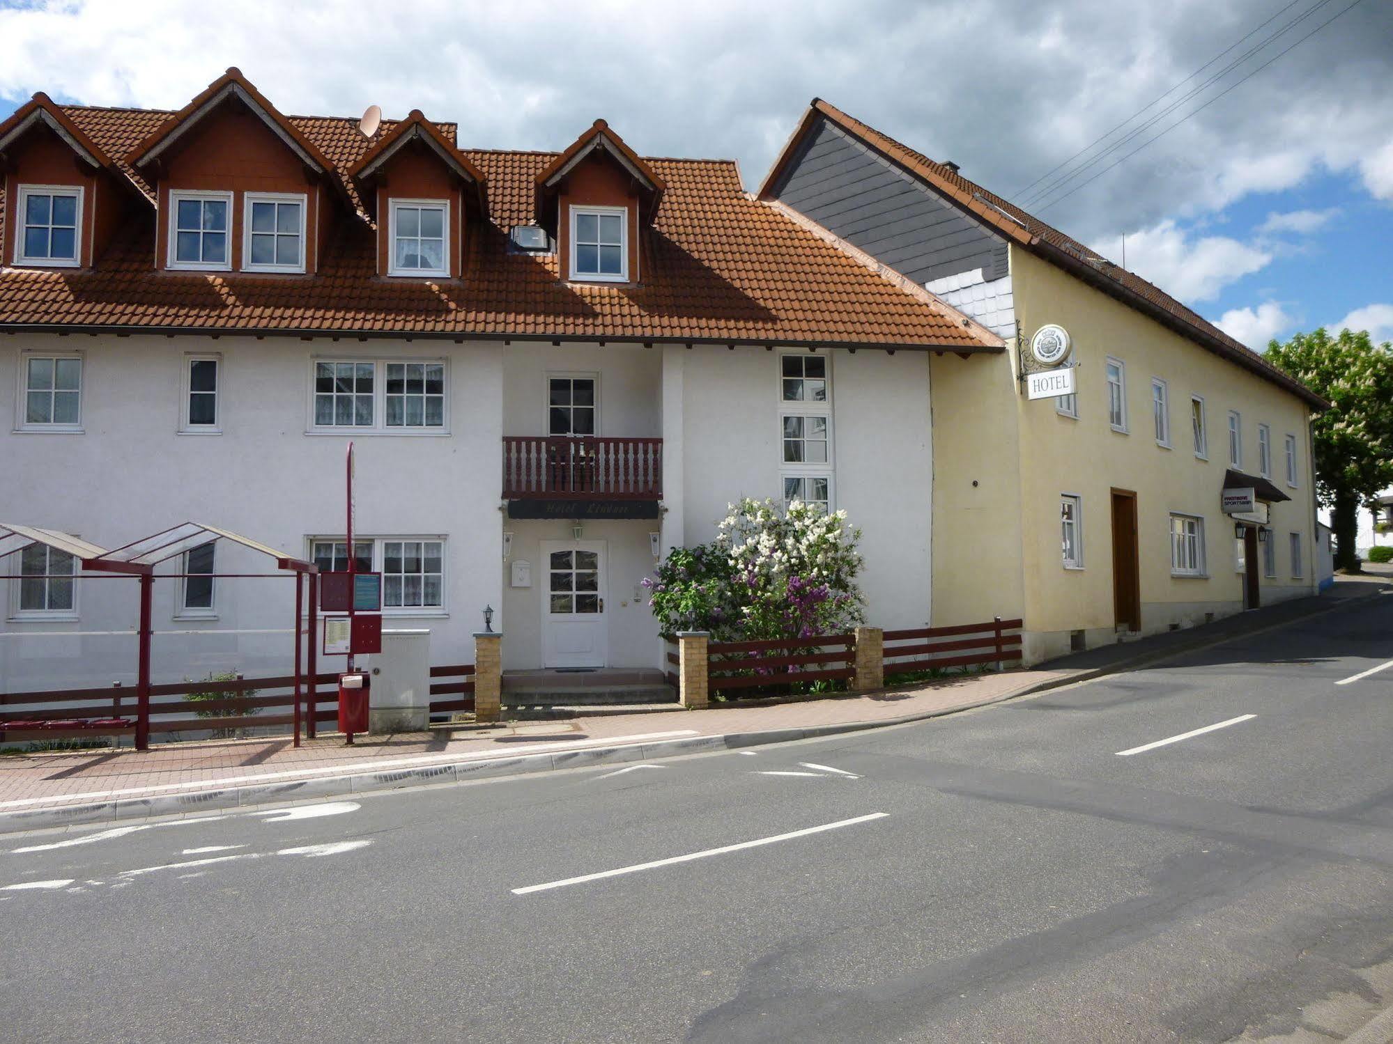
[(1226, 235), (1191, 237), (1169, 220), (1127, 237), (1127, 267), (1185, 302), (1211, 301), (1270, 260), (1268, 251)]

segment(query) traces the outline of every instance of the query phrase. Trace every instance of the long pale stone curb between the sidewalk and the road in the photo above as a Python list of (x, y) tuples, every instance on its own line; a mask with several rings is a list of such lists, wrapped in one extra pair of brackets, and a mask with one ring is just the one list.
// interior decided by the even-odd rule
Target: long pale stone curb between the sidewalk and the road
[[(212, 809), (235, 809), (256, 805), (269, 805), (306, 798), (332, 798), (350, 793), (369, 793), (373, 791), (390, 791), (404, 786), (443, 785), (457, 782), (472, 782), (501, 775), (529, 775), (535, 773), (552, 773), (563, 768), (582, 768), (592, 766), (623, 764), (625, 761), (642, 761), (657, 757), (678, 757), (683, 754), (710, 753), (716, 750), (734, 750), (747, 746), (763, 746), (769, 743), (790, 743), (798, 739), (818, 739), (850, 732), (865, 732), (873, 728), (890, 728), (892, 725), (908, 725), (917, 721), (960, 714), (967, 710), (986, 707), (993, 703), (1031, 696), (1066, 685), (1091, 682), (1120, 671), (1134, 670), (1146, 664), (1159, 663), (1174, 656), (1194, 653), (1213, 646), (1224, 644), (1237, 638), (1261, 635), (1277, 628), (1298, 624), (1311, 617), (1333, 612), (1340, 608), (1357, 606), (1378, 592), (1344, 599), (1333, 606), (1322, 606), (1311, 612), (1291, 617), (1251, 631), (1240, 631), (1201, 639), (1166, 650), (1156, 650), (1149, 654), (1138, 654), (1127, 660), (1119, 660), (1103, 667), (1085, 668), (1073, 674), (1056, 678), (1027, 682), (1015, 689), (1010, 689), (982, 700), (960, 703), (951, 707), (904, 714), (897, 718), (882, 718), (876, 721), (848, 721), (833, 725), (808, 725), (798, 728), (763, 729), (758, 732), (724, 732), (710, 736), (690, 736), (685, 739), (666, 739), (649, 743), (620, 743), (612, 746), (585, 748), (582, 750), (556, 750), (535, 754), (501, 756), (489, 759), (469, 759), (461, 754), (458, 761), (444, 764), (421, 766), (419, 768), (394, 768), (382, 773), (337, 773), (311, 780), (295, 780), (276, 784), (255, 784), (249, 786), (226, 786), (210, 791), (194, 791), (188, 793), (169, 793), (153, 798), (123, 798), (110, 802), (93, 802), (88, 805), (61, 805), (38, 807), (20, 812), (0, 812), (0, 834), (14, 834), (31, 830), (52, 830), (61, 827), (78, 827), (114, 823), (116, 820), (150, 818), (156, 816), (185, 816), (201, 814)], [(1382, 1016), (1380, 1016), (1382, 1018)]]

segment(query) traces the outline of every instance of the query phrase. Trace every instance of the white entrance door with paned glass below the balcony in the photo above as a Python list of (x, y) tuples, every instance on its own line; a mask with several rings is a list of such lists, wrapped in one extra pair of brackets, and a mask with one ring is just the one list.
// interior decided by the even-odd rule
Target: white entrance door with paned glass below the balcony
[(605, 541), (542, 541), (542, 665), (603, 667)]

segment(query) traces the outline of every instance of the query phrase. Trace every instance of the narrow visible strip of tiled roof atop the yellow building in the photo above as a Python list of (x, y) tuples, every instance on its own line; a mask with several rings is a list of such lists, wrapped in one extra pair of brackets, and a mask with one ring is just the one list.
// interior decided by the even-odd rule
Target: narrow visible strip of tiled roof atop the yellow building
[(853, 135), (864, 145), (894, 163), (921, 184), (932, 188), (940, 196), (954, 203), (988, 224), (1000, 235), (1020, 244), (1024, 249), (1038, 253), (1052, 263), (1071, 271), (1074, 276), (1088, 281), (1091, 285), (1119, 298), (1120, 301), (1138, 308), (1152, 317), (1172, 326), (1178, 333), (1185, 334), (1201, 347), (1243, 366), (1244, 369), (1284, 387), (1318, 409), (1329, 408), (1329, 402), (1312, 393), (1305, 384), (1291, 377), (1284, 370), (1273, 366), (1262, 355), (1248, 348), (1241, 341), (1230, 337), (1199, 313), (1183, 305), (1176, 298), (1166, 294), (1141, 276), (1127, 271), (1100, 253), (1091, 251), (1084, 244), (1066, 235), (1057, 228), (1045, 224), (1038, 217), (1028, 214), (1014, 203), (986, 191), (981, 185), (968, 181), (951, 167), (935, 163), (921, 152), (915, 152), (907, 145), (897, 142), (889, 135), (880, 134), (873, 127), (861, 122), (853, 116), (847, 116), (836, 106), (823, 102), (820, 97), (812, 99), (808, 113), (804, 116), (798, 129), (790, 138), (779, 160), (770, 168), (759, 189), (762, 196), (781, 173), (784, 163), (793, 155), (793, 146), (802, 138), (819, 116), (826, 117), (847, 134)]

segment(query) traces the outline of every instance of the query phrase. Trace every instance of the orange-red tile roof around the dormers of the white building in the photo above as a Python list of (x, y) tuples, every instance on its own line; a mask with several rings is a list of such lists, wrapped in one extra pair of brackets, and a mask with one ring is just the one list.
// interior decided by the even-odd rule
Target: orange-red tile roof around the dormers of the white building
[[(130, 156), (152, 141), (152, 132), (173, 124), (167, 111), (82, 106), (63, 111), (113, 156)], [(348, 171), (396, 124), (383, 121), (369, 139), (355, 118), (284, 120), (325, 157), (359, 206)], [(453, 124), (437, 128), (456, 141)], [(734, 161), (641, 160), (664, 192), (641, 245), (644, 283), (614, 287), (564, 284), (554, 256), (510, 249), (508, 230), (536, 220), (536, 178), (557, 153), (462, 149), (461, 155), (488, 182), (489, 223), (471, 237), (460, 281), (376, 276), (375, 235), (361, 213), (340, 217), (313, 276), (155, 271), (149, 209), (116, 234), (92, 271), (0, 271), (0, 330), (400, 333), (1002, 351), (1000, 340), (978, 323), (904, 292), (752, 199)], [(138, 171), (125, 173), (153, 195)]]

